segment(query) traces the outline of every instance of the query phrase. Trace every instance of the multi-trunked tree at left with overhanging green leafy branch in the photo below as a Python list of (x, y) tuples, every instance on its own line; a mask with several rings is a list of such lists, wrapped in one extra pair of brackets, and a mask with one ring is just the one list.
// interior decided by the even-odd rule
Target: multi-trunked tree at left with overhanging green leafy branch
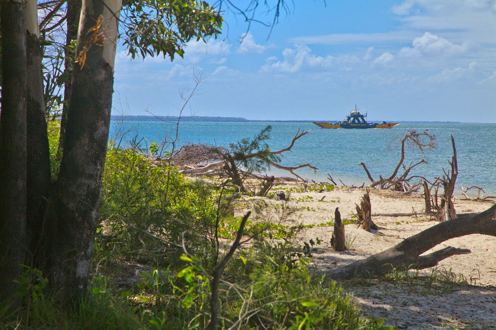
[[(153, 21), (155, 30), (137, 26), (124, 38), (131, 50), (162, 52), (172, 59), (174, 54), (183, 55), (191, 38), (220, 33), (222, 17), (206, 2), (148, 4), (155, 5), (155, 14), (161, 15), (155, 17), (161, 19)], [(126, 4), (131, 17), (136, 16), (134, 22), (152, 15), (146, 5)], [(48, 276), (49, 288), (63, 301), (77, 301), (85, 292), (98, 221), (122, 3), (81, 3), (67, 100), (70, 111), (56, 179), (50, 177), (36, 1), (24, 5), (2, 0), (0, 6), (0, 298), (13, 295), (12, 281), (21, 273), (20, 265), (27, 263)]]

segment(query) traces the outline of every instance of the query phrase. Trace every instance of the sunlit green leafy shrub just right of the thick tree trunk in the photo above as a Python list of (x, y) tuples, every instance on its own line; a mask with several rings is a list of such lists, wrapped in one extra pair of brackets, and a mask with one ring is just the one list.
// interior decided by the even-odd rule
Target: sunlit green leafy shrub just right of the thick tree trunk
[(152, 164), (130, 149), (110, 148), (105, 166), (97, 251), (164, 267), (183, 253), (177, 244), (184, 238), (206, 262), (219, 224), (232, 219), (219, 211), (226, 189), (189, 181), (175, 167)]

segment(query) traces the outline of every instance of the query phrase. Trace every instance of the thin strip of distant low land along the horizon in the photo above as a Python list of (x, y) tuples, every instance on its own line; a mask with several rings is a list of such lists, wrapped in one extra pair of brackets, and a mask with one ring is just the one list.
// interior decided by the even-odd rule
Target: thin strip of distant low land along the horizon
[[(125, 120), (125, 121), (178, 121), (177, 116), (151, 116), (151, 115), (111, 115), (111, 120)], [(260, 120), (260, 119), (246, 119), (243, 117), (209, 117), (209, 116), (192, 116), (182, 117), (181, 121), (212, 121), (212, 122), (336, 122), (337, 120)], [(373, 121), (373, 120), (371, 120)], [(461, 121), (413, 121), (413, 120), (395, 120), (398, 123), (438, 123), (438, 124), (461, 124)]]

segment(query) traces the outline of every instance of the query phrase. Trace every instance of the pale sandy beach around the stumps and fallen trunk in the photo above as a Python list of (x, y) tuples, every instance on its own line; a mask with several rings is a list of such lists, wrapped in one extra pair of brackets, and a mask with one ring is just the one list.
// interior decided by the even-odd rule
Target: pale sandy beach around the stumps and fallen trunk
[[(382, 235), (357, 228), (357, 224), (347, 224), (345, 232), (348, 242), (351, 242), (350, 249), (336, 252), (330, 246), (333, 227), (326, 223), (334, 220), (336, 207), (339, 207), (343, 220), (353, 219), (355, 204), (360, 203), (360, 197), (366, 189), (347, 190), (346, 187), (338, 186), (332, 191), (318, 192), (309, 184), (307, 191), (303, 192), (300, 191), (303, 190), (301, 184), (280, 183), (273, 190), (284, 191), (289, 200), (257, 199), (268, 204), (285, 204), (294, 210), (294, 214), (286, 220), (288, 223), (315, 225), (304, 228), (298, 238), (302, 242), (309, 242), (310, 239), (316, 241), (317, 238), (322, 240), (313, 253), (313, 263), (321, 270), (364, 259), (439, 223), (430, 216), (423, 215), (422, 196), (371, 189), (372, 220), (380, 227)], [(251, 200), (251, 203), (254, 201)], [(237, 216), (250, 208), (250, 201), (244, 205), (237, 210)], [(482, 212), (492, 206), (487, 202), (460, 199), (456, 199), (454, 205), (457, 213)], [(432, 251), (447, 246), (471, 250), (470, 254), (444, 259), (434, 270), (441, 277), (454, 276), (454, 281), (458, 282), (456, 285), (434, 285), (426, 288), (421, 282), (398, 284), (384, 280), (368, 280), (367, 285), (344, 281), (342, 285), (353, 292), (364, 315), (385, 318), (385, 324), (392, 325), (395, 329), (495, 329), (496, 238), (479, 234), (467, 235), (445, 241)], [(420, 272), (429, 275), (433, 269)]]

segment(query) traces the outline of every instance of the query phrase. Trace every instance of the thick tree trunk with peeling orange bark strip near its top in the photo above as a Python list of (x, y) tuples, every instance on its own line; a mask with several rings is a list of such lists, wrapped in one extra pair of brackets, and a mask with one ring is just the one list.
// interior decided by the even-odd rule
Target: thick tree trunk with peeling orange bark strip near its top
[[(120, 0), (84, 0), (54, 218), (45, 242), (49, 283), (65, 301), (85, 293), (98, 221), (114, 83)], [(102, 20), (103, 18), (103, 20)], [(93, 32), (88, 34), (92, 29)], [(94, 44), (90, 37), (100, 38)], [(105, 38), (105, 46), (102, 46)]]

